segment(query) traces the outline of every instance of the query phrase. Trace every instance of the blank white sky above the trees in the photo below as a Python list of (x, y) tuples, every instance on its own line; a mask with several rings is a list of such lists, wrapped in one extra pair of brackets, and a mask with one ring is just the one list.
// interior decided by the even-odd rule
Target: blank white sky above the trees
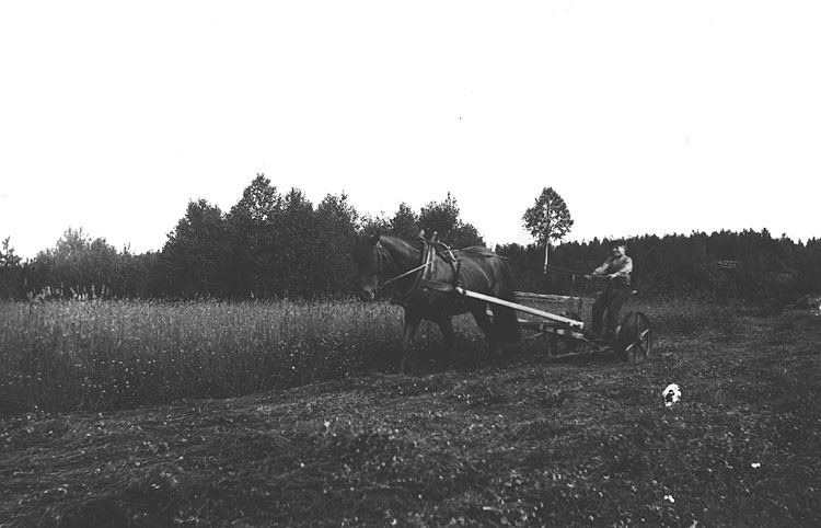
[(450, 192), (489, 245), (821, 237), (814, 1), (0, 4), (0, 240), (162, 249), (257, 173), (392, 216)]

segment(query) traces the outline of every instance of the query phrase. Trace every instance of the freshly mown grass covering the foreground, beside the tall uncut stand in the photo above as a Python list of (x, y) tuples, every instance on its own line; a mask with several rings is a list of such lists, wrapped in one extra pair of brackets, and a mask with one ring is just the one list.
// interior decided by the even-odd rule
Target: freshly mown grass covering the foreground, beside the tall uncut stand
[(810, 526), (820, 344), (817, 317), (747, 314), (668, 328), (639, 365), (520, 355), (8, 420), (0, 526)]

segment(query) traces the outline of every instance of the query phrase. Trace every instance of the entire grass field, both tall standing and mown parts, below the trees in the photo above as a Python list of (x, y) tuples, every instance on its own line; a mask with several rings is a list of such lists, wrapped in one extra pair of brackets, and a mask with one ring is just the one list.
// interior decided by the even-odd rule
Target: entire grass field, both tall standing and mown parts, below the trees
[(821, 318), (628, 309), (643, 363), (459, 318), (401, 376), (384, 303), (0, 305), (0, 526), (817, 526)]

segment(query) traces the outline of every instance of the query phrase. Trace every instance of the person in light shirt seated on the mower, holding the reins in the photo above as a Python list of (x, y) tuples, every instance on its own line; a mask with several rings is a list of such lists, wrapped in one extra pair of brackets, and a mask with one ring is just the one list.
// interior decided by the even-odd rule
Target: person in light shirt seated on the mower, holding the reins
[[(593, 337), (614, 337), (613, 333), (618, 324), (618, 312), (629, 299), (633, 288), (631, 287), (631, 273), (633, 272), (633, 259), (627, 256), (627, 244), (624, 240), (614, 240), (610, 244), (612, 255), (597, 267), (588, 277), (606, 277), (608, 286), (593, 302)], [(602, 321), (604, 312), (606, 319)], [(605, 333), (602, 334), (602, 323)]]

